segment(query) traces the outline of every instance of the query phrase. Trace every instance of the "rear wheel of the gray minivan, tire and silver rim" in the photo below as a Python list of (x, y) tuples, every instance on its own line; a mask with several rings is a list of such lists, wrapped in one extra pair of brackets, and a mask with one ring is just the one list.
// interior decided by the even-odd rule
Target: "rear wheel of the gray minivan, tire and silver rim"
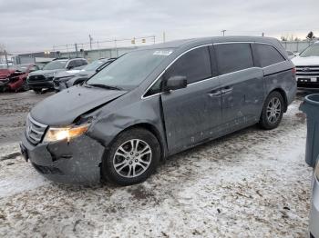
[(265, 130), (276, 128), (283, 119), (284, 107), (282, 94), (277, 91), (269, 94), (262, 106), (262, 115), (259, 121), (260, 126)]

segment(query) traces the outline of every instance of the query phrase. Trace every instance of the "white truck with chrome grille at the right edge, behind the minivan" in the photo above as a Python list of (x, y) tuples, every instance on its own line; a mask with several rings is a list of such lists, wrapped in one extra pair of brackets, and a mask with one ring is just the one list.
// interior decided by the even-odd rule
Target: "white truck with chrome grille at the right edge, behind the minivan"
[(319, 88), (319, 42), (293, 57), (298, 87)]

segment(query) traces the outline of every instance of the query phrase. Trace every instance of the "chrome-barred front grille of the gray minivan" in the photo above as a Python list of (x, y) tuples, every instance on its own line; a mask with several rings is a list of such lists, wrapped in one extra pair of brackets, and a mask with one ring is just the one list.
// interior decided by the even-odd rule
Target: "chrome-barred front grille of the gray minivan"
[(40, 124), (36, 122), (30, 114), (27, 115), (26, 119), (26, 138), (32, 144), (39, 144), (44, 134), (46, 133), (46, 124)]

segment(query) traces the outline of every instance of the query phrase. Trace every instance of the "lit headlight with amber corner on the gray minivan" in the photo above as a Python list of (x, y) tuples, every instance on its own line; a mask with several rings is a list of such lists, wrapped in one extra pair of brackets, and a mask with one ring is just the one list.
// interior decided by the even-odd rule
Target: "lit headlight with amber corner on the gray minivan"
[(71, 139), (85, 134), (87, 132), (89, 124), (71, 125), (68, 127), (54, 128), (49, 127), (44, 142), (57, 142), (67, 140), (69, 142)]

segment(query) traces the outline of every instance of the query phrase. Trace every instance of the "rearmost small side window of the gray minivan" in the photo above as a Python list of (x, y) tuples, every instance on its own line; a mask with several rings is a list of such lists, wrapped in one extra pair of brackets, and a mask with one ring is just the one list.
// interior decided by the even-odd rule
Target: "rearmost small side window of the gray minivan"
[(272, 45), (255, 44), (256, 52), (262, 67), (277, 64), (285, 59)]

